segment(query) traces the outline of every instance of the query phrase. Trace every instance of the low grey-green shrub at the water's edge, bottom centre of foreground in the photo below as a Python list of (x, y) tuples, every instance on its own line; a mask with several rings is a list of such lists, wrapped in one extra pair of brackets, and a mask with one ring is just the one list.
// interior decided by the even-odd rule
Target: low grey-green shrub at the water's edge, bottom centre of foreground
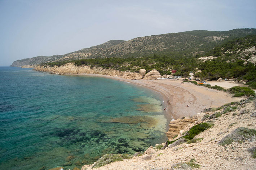
[(107, 164), (110, 164), (111, 162), (116, 162), (116, 161), (123, 161), (123, 159), (128, 159), (132, 158), (131, 155), (121, 155), (121, 154), (106, 154), (102, 156), (93, 166), (92, 168), (98, 168)]

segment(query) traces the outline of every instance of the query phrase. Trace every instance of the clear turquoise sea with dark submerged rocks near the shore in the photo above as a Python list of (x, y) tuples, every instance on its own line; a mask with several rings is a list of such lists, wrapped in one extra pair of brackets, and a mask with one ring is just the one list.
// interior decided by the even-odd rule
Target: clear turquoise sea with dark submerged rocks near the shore
[(167, 140), (160, 94), (103, 77), (0, 67), (0, 169), (92, 164)]

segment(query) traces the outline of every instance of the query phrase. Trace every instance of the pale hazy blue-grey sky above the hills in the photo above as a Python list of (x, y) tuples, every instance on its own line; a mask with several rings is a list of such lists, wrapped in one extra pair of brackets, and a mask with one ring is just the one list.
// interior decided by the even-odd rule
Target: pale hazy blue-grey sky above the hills
[(255, 0), (0, 0), (0, 66), (109, 40), (256, 28)]

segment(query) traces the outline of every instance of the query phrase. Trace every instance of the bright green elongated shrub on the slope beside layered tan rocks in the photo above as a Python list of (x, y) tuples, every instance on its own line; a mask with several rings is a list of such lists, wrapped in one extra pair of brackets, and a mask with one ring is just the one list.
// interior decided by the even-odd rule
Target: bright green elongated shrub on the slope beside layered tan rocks
[(190, 128), (190, 130), (187, 132), (187, 134), (184, 136), (184, 138), (193, 139), (200, 132), (211, 128), (211, 126), (212, 126), (212, 124), (210, 124), (210, 123), (202, 123), (202, 124), (195, 125), (192, 128)]

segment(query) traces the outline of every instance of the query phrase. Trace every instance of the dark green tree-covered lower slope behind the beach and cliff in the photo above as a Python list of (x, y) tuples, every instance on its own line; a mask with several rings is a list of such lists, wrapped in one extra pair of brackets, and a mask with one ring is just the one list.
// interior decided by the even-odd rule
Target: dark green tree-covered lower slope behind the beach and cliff
[[(195, 73), (195, 77), (201, 80), (209, 79), (216, 80), (222, 78), (238, 78), (247, 81), (256, 80), (255, 63), (250, 62), (250, 59), (256, 54), (256, 35), (237, 38), (227, 41), (224, 44), (216, 46), (210, 50), (207, 55), (214, 55), (214, 59), (203, 61), (198, 57), (200, 55), (189, 55), (184, 57), (173, 57), (172, 55), (148, 55), (147, 57), (111, 57), (111, 58), (94, 58), (80, 59), (72, 61), (76, 66), (88, 65), (103, 68), (112, 68), (120, 71), (138, 71), (141, 68), (147, 72), (156, 69), (161, 75), (171, 74), (171, 70), (176, 70), (177, 76), (189, 76), (189, 72)], [(240, 54), (244, 51), (253, 49), (249, 58), (244, 58)], [(229, 51), (227, 53), (227, 51)], [(250, 50), (249, 50), (250, 51)], [(233, 53), (232, 53), (233, 52)], [(231, 54), (229, 54), (231, 53)], [(207, 56), (206, 55), (206, 56)], [(61, 66), (70, 61), (44, 63), (44, 66)]]

